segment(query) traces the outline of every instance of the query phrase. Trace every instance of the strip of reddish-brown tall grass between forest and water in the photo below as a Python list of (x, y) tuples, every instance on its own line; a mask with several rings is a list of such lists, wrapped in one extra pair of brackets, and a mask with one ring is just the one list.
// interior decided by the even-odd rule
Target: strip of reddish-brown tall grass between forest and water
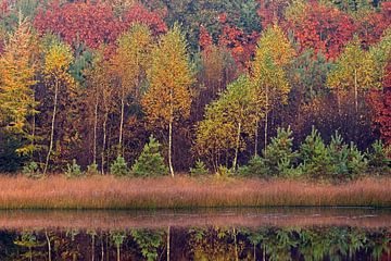
[(391, 178), (343, 185), (303, 181), (190, 177), (66, 179), (0, 177), (1, 209), (143, 209), (198, 207), (391, 207)]

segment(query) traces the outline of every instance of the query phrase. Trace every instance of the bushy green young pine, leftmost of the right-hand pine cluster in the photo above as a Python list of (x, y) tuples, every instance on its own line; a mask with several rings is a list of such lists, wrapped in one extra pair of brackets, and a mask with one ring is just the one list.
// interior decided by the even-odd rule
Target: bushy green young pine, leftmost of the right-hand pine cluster
[(289, 176), (292, 172), (297, 152), (292, 149), (293, 138), (290, 127), (278, 128), (277, 136), (264, 150), (265, 165), (268, 173), (274, 176)]

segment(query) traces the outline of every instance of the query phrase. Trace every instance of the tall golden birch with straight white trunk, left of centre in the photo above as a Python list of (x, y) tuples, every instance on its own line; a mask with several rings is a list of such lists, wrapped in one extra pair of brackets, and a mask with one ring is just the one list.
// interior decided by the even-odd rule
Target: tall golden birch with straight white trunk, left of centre
[(178, 25), (159, 41), (152, 50), (152, 64), (148, 71), (150, 83), (142, 105), (150, 124), (168, 125), (168, 165), (173, 167), (173, 124), (190, 113), (190, 85), (193, 76), (186, 50), (185, 36)]

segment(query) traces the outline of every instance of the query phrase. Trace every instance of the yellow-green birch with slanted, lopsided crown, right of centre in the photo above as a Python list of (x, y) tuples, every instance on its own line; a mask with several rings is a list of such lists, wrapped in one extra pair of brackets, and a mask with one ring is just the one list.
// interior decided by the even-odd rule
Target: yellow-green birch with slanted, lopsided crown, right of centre
[[(205, 119), (197, 128), (195, 150), (200, 156), (234, 149), (232, 169), (236, 169), (239, 150), (245, 148), (241, 136), (251, 135), (254, 125), (253, 95), (250, 77), (242, 75), (206, 108)], [(214, 163), (217, 167), (218, 162)]]

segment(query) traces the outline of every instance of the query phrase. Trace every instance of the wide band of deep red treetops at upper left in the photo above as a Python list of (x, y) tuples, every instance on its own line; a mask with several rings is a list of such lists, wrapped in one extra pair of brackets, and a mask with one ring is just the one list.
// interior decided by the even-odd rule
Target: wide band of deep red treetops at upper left
[(134, 5), (121, 20), (114, 15), (111, 5), (105, 3), (74, 2), (60, 5), (53, 3), (46, 11), (39, 10), (34, 25), (43, 34), (59, 34), (67, 44), (85, 42), (90, 48), (102, 44), (111, 45), (133, 23), (148, 25), (154, 34), (165, 33), (166, 25), (153, 12), (142, 5)]

